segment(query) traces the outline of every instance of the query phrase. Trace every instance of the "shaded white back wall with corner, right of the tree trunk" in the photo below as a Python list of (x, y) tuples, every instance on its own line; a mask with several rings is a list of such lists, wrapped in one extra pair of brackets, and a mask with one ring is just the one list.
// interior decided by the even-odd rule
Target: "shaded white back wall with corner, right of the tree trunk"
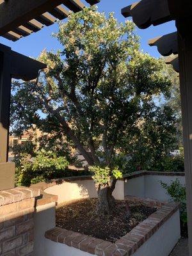
[(186, 184), (184, 176), (173, 175), (143, 175), (140, 177), (125, 180), (125, 196), (138, 196), (141, 198), (151, 198), (160, 201), (170, 200), (166, 194), (166, 189), (161, 186), (161, 181), (171, 184), (173, 180), (179, 179), (181, 184)]

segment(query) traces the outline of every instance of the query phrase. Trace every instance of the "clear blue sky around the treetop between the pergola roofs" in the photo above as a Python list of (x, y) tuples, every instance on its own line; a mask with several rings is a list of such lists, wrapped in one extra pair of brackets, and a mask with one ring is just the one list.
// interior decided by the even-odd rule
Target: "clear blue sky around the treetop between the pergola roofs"
[[(84, 0), (83, 0), (84, 2)], [(108, 15), (109, 12), (115, 12), (115, 17), (119, 22), (125, 22), (125, 18), (121, 14), (121, 8), (133, 3), (130, 0), (101, 0), (98, 4), (100, 12), (105, 12)], [(58, 25), (54, 24), (49, 27), (45, 27), (42, 31), (33, 33), (26, 38), (22, 38), (17, 42), (11, 42), (0, 37), (0, 43), (12, 47), (14, 51), (25, 54), (26, 56), (31, 56), (36, 58), (43, 49), (48, 51), (58, 49), (60, 45), (58, 44), (56, 38), (52, 38), (52, 32), (58, 30)], [(137, 29), (138, 35), (141, 37), (141, 49), (144, 52), (148, 52), (150, 55), (158, 57), (156, 47), (148, 46), (148, 39), (154, 38), (159, 35), (165, 35), (175, 31), (175, 22), (168, 22), (161, 26), (151, 26), (148, 29)]]

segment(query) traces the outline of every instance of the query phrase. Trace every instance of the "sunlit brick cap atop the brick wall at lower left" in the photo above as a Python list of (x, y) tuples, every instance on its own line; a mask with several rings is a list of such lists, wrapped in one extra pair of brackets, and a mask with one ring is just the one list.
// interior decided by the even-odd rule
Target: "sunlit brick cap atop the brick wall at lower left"
[(40, 196), (40, 189), (17, 187), (0, 191), (0, 206)]

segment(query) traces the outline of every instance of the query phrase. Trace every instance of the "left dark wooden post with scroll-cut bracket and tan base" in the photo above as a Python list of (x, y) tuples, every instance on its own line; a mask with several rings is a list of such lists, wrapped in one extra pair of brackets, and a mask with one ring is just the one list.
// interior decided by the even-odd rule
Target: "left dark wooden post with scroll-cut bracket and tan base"
[(39, 70), (44, 68), (44, 63), (0, 44), (0, 190), (15, 186), (15, 164), (8, 163), (12, 77), (29, 81), (35, 79)]

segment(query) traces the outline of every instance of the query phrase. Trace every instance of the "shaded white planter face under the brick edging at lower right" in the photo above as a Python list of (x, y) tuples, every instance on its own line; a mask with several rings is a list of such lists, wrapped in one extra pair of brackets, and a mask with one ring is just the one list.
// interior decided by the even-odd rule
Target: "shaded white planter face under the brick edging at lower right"
[(177, 211), (132, 256), (168, 256), (179, 239), (180, 220)]

